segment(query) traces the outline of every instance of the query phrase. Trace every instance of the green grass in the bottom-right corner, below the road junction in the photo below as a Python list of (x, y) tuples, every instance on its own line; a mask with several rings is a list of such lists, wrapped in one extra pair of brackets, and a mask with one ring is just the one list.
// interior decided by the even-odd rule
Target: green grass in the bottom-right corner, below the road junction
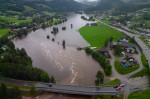
[(128, 99), (150, 99), (150, 89), (144, 90), (142, 92), (131, 93)]

